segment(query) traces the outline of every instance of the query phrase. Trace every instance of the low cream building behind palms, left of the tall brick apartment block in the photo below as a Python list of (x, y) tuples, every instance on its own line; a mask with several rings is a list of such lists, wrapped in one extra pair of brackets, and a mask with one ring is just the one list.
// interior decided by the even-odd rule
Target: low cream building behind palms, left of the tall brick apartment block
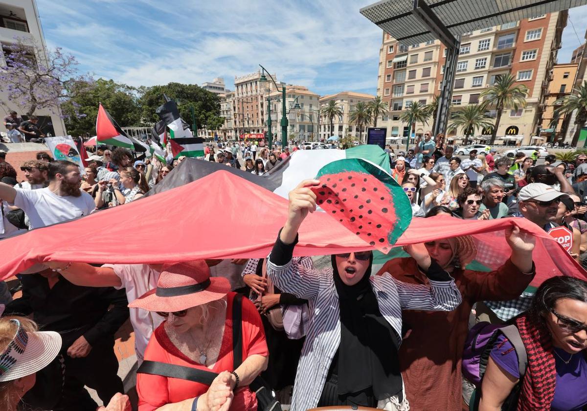
[[(339, 136), (343, 137), (347, 134), (355, 137), (357, 140), (359, 139), (359, 127), (355, 124), (351, 124), (349, 122), (349, 113), (355, 108), (356, 103), (358, 102), (365, 102), (368, 103), (371, 100), (375, 99), (375, 96), (365, 93), (356, 93), (356, 92), (340, 92), (336, 94), (331, 94), (327, 96), (323, 96), (320, 98), (320, 107), (328, 106), (330, 100), (334, 100), (336, 105), (340, 107), (342, 111), (342, 116), (333, 119), (333, 129), (332, 132), (330, 131), (330, 119), (326, 116), (321, 116), (320, 119), (320, 130), (319, 130), (319, 138), (320, 140), (326, 140), (330, 136)], [(363, 140), (366, 139), (365, 130), (363, 130)]]

